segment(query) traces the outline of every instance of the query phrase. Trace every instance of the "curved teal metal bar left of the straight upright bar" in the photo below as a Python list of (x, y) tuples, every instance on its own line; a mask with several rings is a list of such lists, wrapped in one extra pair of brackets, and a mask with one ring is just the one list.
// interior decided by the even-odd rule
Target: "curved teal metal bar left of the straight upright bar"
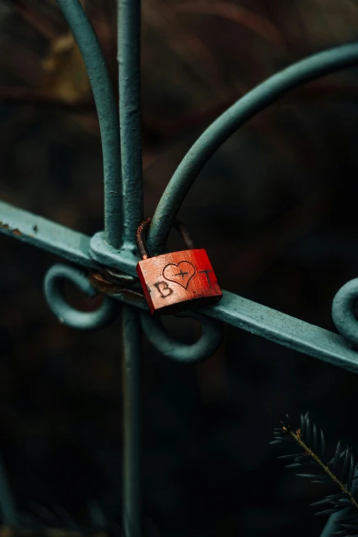
[(79, 0), (57, 0), (81, 51), (91, 82), (101, 130), (104, 167), (104, 232), (113, 246), (121, 246), (122, 180), (119, 116), (112, 81), (95, 30)]

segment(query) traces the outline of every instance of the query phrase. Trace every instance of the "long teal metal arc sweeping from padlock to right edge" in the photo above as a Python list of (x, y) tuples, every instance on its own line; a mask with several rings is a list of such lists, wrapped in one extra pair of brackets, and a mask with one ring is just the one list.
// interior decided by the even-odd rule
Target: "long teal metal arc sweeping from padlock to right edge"
[(193, 182), (209, 158), (237, 129), (291, 89), (357, 63), (358, 43), (314, 54), (268, 78), (218, 117), (184, 156), (160, 198), (147, 238), (151, 255), (163, 252), (176, 214)]

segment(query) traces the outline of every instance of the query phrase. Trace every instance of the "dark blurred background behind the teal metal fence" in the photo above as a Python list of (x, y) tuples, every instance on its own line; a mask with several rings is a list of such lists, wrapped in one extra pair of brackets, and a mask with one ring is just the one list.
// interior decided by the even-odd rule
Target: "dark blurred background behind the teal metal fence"
[[(116, 84), (115, 3), (85, 8)], [(143, 0), (145, 215), (240, 95), (357, 37), (356, 0)], [(0, 40), (0, 198), (91, 235), (103, 227), (99, 129), (56, 1), (0, 0)], [(180, 218), (224, 289), (335, 330), (333, 296), (358, 276), (357, 142), (351, 69), (292, 92), (217, 152)], [(16, 503), (48, 525), (60, 509), (84, 526), (106, 518), (115, 534), (119, 322), (91, 334), (58, 324), (42, 290), (56, 259), (2, 236), (0, 252), (0, 453)], [(187, 341), (198, 334), (189, 321), (167, 326)], [(143, 346), (146, 532), (319, 536), (325, 520), (307, 505), (322, 490), (276, 460), (272, 428), (309, 409), (331, 449), (342, 438), (357, 453), (357, 377), (231, 327), (198, 366)]]

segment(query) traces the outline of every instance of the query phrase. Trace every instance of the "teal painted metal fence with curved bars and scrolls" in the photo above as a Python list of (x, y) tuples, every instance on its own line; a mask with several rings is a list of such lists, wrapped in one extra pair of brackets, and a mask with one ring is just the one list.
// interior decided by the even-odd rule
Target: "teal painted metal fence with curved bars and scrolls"
[[(121, 302), (123, 533), (126, 537), (139, 537), (142, 535), (141, 331), (163, 355), (193, 363), (214, 353), (222, 340), (222, 323), (227, 323), (357, 372), (358, 324), (353, 308), (358, 298), (358, 279), (339, 289), (333, 300), (333, 320), (340, 335), (224, 291), (217, 305), (185, 313), (200, 322), (200, 339), (194, 344), (174, 341), (158, 315), (150, 315), (136, 274), (140, 259), (136, 230), (143, 220), (140, 0), (118, 2), (119, 117), (102, 51), (80, 1), (58, 0), (58, 4), (84, 58), (97, 107), (104, 163), (104, 231), (87, 237), (3, 202), (0, 202), (0, 230), (67, 261), (67, 265), (51, 267), (45, 276), (45, 297), (60, 322), (75, 329), (100, 329), (116, 317)], [(216, 119), (184, 156), (160, 198), (147, 237), (150, 254), (155, 256), (165, 251), (182, 201), (202, 167), (231, 134), (291, 89), (355, 64), (358, 64), (356, 43), (315, 54), (265, 80)], [(91, 312), (73, 309), (64, 296), (64, 281), (71, 281), (88, 296), (101, 292), (102, 305)], [(331, 522), (322, 536), (331, 534)]]

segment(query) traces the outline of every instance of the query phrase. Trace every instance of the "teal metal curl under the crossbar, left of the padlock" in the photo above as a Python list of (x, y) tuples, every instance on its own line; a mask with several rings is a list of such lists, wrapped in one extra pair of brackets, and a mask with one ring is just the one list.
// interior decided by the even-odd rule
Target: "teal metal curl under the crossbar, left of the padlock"
[(53, 265), (47, 272), (44, 281), (44, 293), (49, 308), (58, 320), (71, 328), (82, 330), (97, 330), (103, 328), (115, 319), (117, 305), (114, 300), (104, 296), (102, 305), (95, 311), (79, 311), (67, 302), (64, 295), (64, 281), (71, 281), (87, 296), (97, 294), (88, 279), (88, 274), (67, 265)]

